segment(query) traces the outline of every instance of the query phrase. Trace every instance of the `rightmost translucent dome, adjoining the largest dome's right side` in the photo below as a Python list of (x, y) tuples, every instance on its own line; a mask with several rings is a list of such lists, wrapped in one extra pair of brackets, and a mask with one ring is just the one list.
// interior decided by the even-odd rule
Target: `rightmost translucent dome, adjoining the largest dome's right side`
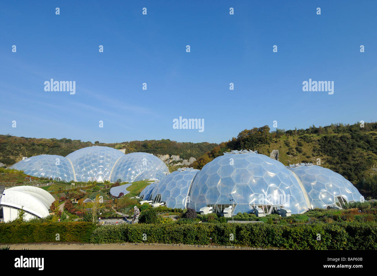
[(326, 206), (337, 205), (342, 200), (339, 197), (347, 202), (364, 201), (364, 197), (351, 182), (331, 169), (311, 163), (291, 165), (289, 169), (302, 181), (309, 195), (311, 208), (325, 209)]

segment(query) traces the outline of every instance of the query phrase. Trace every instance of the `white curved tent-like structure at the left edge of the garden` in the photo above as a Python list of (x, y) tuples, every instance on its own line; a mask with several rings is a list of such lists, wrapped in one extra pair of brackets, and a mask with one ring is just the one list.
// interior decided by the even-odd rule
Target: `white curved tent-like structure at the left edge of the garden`
[(5, 189), (0, 200), (4, 222), (15, 220), (21, 208), (25, 210), (25, 220), (47, 217), (54, 200), (49, 192), (34, 186)]

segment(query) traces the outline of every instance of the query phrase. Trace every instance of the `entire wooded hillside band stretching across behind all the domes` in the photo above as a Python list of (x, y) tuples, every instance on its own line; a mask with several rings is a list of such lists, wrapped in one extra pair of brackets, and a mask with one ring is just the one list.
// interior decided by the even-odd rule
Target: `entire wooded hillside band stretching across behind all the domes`
[[(312, 162), (342, 174), (366, 196), (377, 194), (377, 123), (354, 125), (332, 124), (300, 130), (270, 131), (264, 127), (241, 131), (237, 137), (219, 145), (215, 143), (189, 143), (171, 140), (145, 140), (123, 143), (81, 142), (70, 139), (36, 139), (0, 135), (0, 162), (12, 165), (23, 156), (57, 154), (66, 156), (86, 146), (101, 145), (124, 149), (125, 153), (149, 152), (152, 154), (191, 156), (198, 159), (192, 166), (201, 169), (206, 163), (231, 149), (252, 149), (270, 156), (279, 150), (279, 161), (284, 165)], [(320, 163), (319, 163), (320, 162)], [(172, 169), (171, 171), (175, 170)]]

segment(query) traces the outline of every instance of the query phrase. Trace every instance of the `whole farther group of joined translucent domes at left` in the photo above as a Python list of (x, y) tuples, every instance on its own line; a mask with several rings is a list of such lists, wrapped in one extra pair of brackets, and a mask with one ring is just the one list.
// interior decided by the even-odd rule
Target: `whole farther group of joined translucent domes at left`
[(124, 154), (108, 146), (89, 146), (71, 152), (66, 157), (45, 154), (32, 156), (15, 163), (11, 168), (28, 175), (67, 182), (161, 180), (169, 174), (168, 167), (153, 154)]

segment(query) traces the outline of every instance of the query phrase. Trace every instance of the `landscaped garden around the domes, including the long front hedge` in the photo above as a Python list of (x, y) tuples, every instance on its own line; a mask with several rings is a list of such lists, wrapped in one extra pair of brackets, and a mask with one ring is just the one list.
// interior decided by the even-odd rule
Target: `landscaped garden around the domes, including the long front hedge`
[[(40, 180), (51, 181), (51, 180)], [(21, 242), (147, 242), (200, 245), (238, 245), (287, 249), (377, 249), (377, 202), (346, 204), (345, 209), (314, 209), (303, 214), (257, 217), (237, 213), (225, 218), (216, 213), (201, 215), (193, 209), (153, 208), (136, 197), (147, 181), (132, 183), (130, 193), (110, 194), (112, 186), (126, 183), (59, 183), (43, 187), (54, 197), (51, 215), (0, 224), (4, 244)], [(83, 184), (83, 183), (82, 183)], [(67, 189), (69, 188), (69, 189)], [(133, 207), (141, 211), (139, 223), (101, 225), (98, 218), (132, 218)], [(228, 223), (261, 221), (263, 223)], [(130, 221), (130, 219), (129, 219)], [(320, 239), (317, 239), (320, 236)], [(144, 237), (144, 239), (143, 239)]]

